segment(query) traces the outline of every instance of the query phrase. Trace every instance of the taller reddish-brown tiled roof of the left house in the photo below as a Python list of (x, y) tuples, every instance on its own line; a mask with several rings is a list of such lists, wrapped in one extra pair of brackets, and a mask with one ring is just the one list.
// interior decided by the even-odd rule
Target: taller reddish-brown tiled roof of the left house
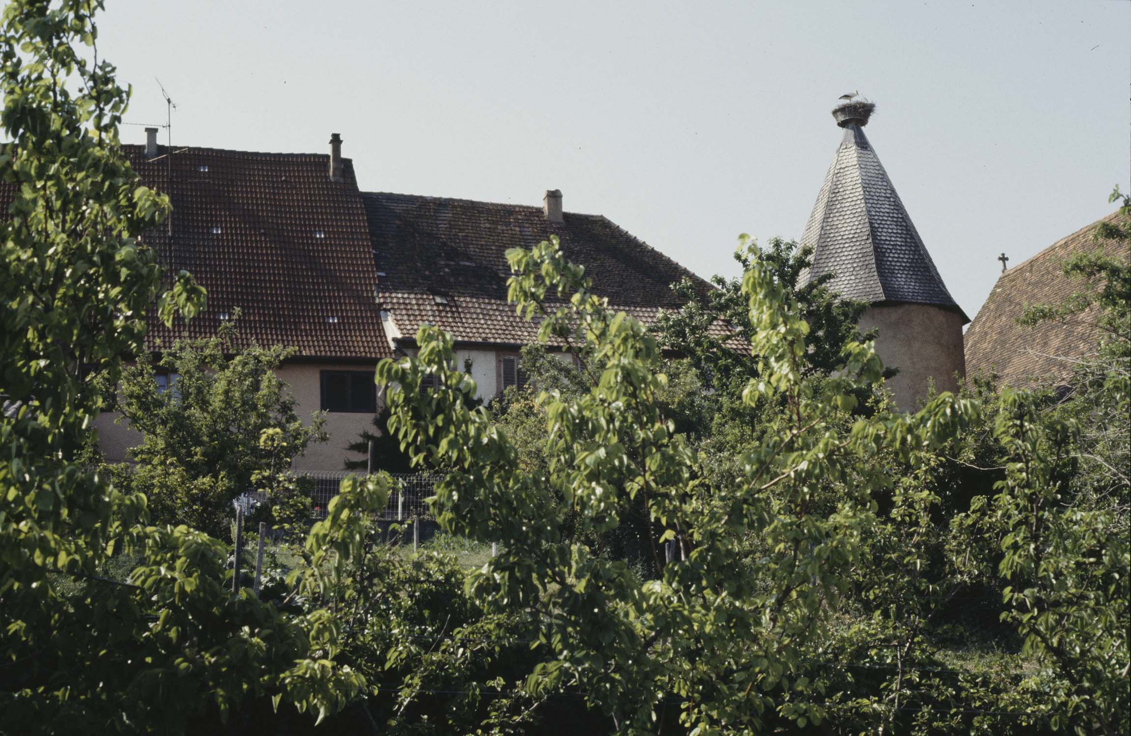
[(123, 151), (143, 183), (169, 193), (173, 206), (143, 241), (208, 291), (207, 309), (187, 330), (181, 320), (167, 329), (150, 315), (150, 349), (184, 335), (214, 335), (222, 314), (240, 308), (247, 343), (293, 346), (304, 357), (391, 354), (348, 159), (344, 181), (334, 182), (328, 155), (174, 147), (170, 158), (161, 146), (146, 159), (144, 146)]

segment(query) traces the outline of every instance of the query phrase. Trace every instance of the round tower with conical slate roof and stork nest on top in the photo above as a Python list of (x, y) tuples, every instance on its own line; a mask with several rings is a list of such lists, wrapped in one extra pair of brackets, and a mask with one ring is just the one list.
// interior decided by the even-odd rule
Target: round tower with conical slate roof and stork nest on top
[(864, 136), (874, 109), (847, 102), (832, 111), (844, 136), (802, 236), (813, 254), (801, 284), (831, 274), (831, 291), (870, 304), (860, 329), (877, 330), (877, 353), (898, 369), (888, 388), (909, 412), (932, 379), (939, 390), (957, 389), (955, 376), (966, 373), (962, 326), (970, 320), (947, 291)]

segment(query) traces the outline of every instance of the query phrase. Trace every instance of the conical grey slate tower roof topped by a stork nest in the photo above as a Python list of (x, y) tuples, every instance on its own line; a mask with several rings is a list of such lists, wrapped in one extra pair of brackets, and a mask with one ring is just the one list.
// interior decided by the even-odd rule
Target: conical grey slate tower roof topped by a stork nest
[(801, 239), (814, 249), (801, 283), (834, 272), (829, 287), (845, 298), (936, 304), (961, 313), (864, 136), (872, 109), (846, 103), (832, 111), (845, 132)]

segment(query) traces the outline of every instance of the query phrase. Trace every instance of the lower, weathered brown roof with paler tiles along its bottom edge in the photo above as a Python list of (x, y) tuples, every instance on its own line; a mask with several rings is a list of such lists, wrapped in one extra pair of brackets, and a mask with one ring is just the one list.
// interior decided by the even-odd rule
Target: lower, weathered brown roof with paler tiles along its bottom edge
[(537, 327), (507, 304), (506, 252), (558, 235), (568, 259), (585, 266), (593, 291), (645, 322), (683, 300), (671, 284), (713, 287), (599, 215), (564, 213), (550, 222), (538, 207), (365, 192), (380, 271), (387, 331), (411, 339), (422, 322), (460, 341), (519, 345)]

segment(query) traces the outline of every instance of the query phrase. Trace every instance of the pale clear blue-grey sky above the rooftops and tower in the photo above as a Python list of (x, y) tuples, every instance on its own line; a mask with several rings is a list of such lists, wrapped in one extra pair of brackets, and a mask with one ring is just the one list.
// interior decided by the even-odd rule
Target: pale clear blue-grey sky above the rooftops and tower
[[(365, 191), (603, 214), (700, 276), (736, 237), (798, 239), (858, 90), (951, 294), (1131, 189), (1131, 1), (153, 2), (107, 0), (122, 129), (328, 153)], [(162, 131), (165, 142), (165, 131)]]

